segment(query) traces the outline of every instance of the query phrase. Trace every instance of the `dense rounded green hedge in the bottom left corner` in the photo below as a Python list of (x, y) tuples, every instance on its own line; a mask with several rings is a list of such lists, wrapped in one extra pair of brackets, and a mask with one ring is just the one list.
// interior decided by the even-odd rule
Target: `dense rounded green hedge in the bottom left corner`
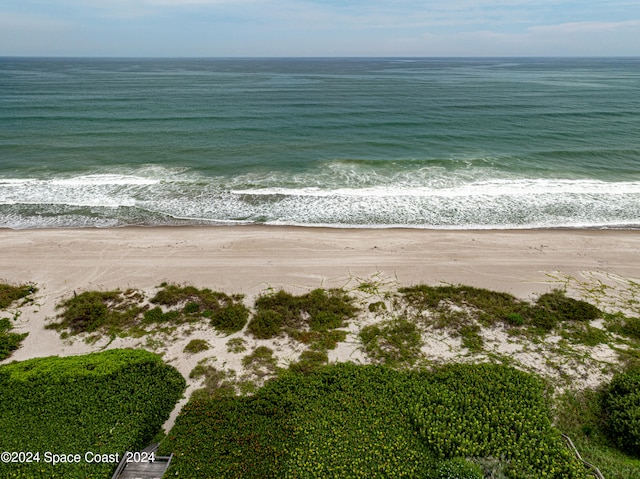
[[(47, 464), (44, 453), (119, 453), (145, 447), (185, 387), (159, 356), (110, 350), (0, 366), (0, 450), (40, 462), (0, 464), (3, 478), (105, 478), (115, 464)], [(84, 457), (84, 456), (83, 456)]]

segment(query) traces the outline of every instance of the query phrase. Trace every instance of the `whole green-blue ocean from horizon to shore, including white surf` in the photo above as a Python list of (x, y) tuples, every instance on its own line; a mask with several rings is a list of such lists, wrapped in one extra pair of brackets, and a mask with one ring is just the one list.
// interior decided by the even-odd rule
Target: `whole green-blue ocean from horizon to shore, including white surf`
[(0, 227), (640, 227), (640, 59), (0, 58)]

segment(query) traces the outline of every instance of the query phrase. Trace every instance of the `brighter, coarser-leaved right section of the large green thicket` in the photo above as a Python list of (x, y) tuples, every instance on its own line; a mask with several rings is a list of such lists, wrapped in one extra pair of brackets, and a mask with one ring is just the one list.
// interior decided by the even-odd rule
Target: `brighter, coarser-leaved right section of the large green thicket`
[(543, 384), (516, 369), (448, 366), (418, 388), (412, 419), (436, 457), (505, 457), (510, 476), (579, 477), (551, 428)]

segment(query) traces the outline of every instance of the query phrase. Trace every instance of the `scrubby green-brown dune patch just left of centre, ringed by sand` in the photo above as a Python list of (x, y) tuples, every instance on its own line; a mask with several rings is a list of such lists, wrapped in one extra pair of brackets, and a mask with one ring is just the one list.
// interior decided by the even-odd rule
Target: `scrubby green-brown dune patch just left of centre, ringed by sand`
[(259, 296), (255, 308), (248, 329), (259, 339), (273, 338), (283, 332), (299, 339), (296, 333), (305, 329), (325, 333), (344, 326), (357, 312), (354, 299), (341, 289), (314, 289), (300, 296), (280, 290)]

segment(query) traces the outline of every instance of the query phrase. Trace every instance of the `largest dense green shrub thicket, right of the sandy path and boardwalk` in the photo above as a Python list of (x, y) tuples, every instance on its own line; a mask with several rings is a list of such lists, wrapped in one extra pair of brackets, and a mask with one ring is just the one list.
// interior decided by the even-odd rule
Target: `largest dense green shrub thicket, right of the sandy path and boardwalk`
[(587, 477), (551, 427), (544, 385), (486, 364), (289, 371), (253, 396), (190, 401), (161, 448), (184, 479), (475, 479), (482, 458), (514, 479)]

